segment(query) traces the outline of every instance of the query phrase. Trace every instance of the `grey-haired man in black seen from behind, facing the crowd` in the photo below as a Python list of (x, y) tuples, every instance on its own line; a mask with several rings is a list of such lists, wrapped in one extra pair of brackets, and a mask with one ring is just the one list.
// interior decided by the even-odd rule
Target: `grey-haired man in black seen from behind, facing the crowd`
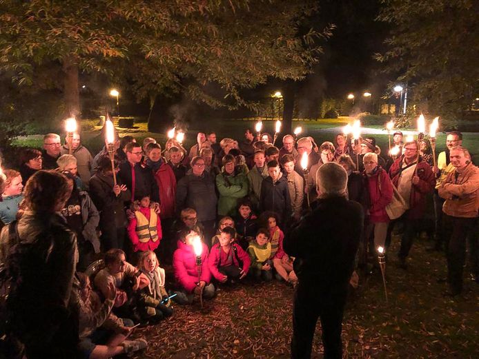
[(347, 174), (337, 163), (317, 170), (317, 207), (284, 239), (299, 283), (293, 305), (291, 358), (311, 358), (319, 317), (324, 358), (342, 358), (341, 327), (349, 278), (364, 222), (361, 205), (346, 199)]

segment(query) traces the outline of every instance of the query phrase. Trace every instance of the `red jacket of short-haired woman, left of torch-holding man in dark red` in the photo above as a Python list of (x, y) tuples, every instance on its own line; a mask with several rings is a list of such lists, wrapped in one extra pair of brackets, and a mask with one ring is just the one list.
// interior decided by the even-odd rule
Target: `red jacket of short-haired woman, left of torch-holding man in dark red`
[(393, 199), (391, 178), (380, 166), (371, 176), (363, 173), (367, 184), (366, 189), (369, 192), (369, 221), (371, 223), (389, 222), (386, 206)]

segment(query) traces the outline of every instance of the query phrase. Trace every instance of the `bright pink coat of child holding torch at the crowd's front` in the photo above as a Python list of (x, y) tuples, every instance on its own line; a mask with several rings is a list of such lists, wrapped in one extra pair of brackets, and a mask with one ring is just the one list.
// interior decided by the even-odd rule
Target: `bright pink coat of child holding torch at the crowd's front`
[[(211, 281), (211, 272), (208, 267), (208, 247), (204, 243), (202, 245), (202, 265), (200, 267), (199, 280), (203, 280), (208, 284)], [(182, 240), (178, 240), (178, 249), (173, 254), (173, 270), (175, 271), (175, 280), (179, 287), (191, 293), (198, 283), (198, 267), (192, 245), (186, 245)]]

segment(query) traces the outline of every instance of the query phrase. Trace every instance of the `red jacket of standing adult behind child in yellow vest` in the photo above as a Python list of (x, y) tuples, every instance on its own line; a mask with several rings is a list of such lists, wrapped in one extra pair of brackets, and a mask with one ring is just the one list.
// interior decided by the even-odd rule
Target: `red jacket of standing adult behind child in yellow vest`
[(159, 189), (159, 216), (173, 218), (175, 216), (176, 178), (173, 170), (165, 162), (153, 172)]

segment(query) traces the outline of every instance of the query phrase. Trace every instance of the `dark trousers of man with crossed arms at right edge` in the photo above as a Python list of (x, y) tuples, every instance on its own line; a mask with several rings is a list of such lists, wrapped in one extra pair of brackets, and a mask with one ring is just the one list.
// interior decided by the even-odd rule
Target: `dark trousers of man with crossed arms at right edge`
[(447, 248), (447, 282), (453, 293), (462, 291), (462, 271), (466, 260), (466, 238), (477, 218), (443, 214), (444, 245)]

